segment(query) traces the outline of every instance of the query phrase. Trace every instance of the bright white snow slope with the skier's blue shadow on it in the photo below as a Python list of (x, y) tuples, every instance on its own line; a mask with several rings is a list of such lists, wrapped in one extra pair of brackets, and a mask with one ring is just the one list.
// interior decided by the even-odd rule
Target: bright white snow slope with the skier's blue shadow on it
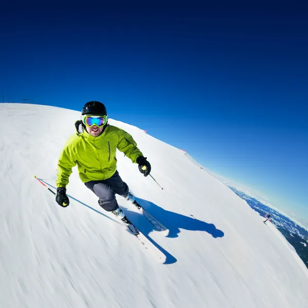
[(57, 158), (79, 112), (0, 104), (0, 114), (1, 308), (308, 306), (307, 268), (283, 236), (183, 151), (110, 120), (132, 134), (164, 187), (118, 153), (123, 180), (170, 229), (162, 237), (118, 197), (167, 255), (162, 265), (100, 208), (75, 168), (67, 208), (34, 179), (54, 186)]

